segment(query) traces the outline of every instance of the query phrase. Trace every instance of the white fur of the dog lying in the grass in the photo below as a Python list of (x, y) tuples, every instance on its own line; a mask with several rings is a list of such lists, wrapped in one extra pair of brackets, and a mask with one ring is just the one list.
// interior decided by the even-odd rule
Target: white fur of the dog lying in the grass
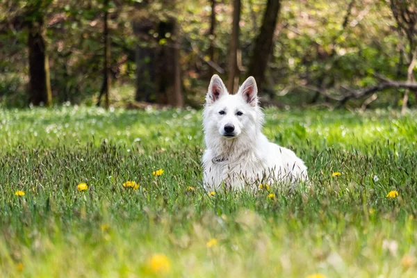
[[(222, 184), (237, 190), (245, 186), (257, 188), (260, 183), (294, 184), (308, 180), (303, 161), (290, 149), (268, 142), (263, 135), (264, 120), (257, 93), (252, 76), (236, 95), (229, 95), (217, 74), (211, 78), (203, 112), (206, 190), (218, 189)], [(227, 133), (226, 125), (234, 126), (234, 131)]]

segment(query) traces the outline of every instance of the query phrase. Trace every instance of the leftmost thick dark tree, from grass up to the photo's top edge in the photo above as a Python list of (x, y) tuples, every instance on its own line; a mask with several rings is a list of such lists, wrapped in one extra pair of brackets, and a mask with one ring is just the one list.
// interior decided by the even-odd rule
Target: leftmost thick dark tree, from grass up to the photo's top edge
[(29, 99), (31, 104), (51, 106), (52, 93), (49, 76), (47, 43), (44, 39), (44, 9), (50, 1), (35, 0), (28, 3)]

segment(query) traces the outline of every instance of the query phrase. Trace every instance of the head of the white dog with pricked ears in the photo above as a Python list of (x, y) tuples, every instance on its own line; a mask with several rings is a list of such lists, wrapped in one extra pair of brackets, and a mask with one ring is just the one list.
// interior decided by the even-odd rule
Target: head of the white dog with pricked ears
[(257, 95), (258, 88), (252, 76), (243, 82), (236, 95), (229, 95), (222, 79), (217, 74), (213, 75), (204, 108), (206, 133), (217, 131), (222, 138), (227, 139), (256, 133), (263, 122)]

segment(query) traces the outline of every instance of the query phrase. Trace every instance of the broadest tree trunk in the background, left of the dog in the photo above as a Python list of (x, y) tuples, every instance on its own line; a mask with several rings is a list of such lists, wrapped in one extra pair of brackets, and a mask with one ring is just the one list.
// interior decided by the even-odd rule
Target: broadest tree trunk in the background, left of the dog
[(176, 2), (163, 3), (163, 10), (148, 1), (136, 6), (136, 100), (182, 107), (181, 34), (173, 12)]

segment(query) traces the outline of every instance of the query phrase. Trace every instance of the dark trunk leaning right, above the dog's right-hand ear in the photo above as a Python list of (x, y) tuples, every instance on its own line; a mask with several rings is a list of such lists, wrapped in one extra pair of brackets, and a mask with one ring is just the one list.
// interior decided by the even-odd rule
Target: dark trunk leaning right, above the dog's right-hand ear
[(275, 27), (277, 26), (280, 0), (268, 0), (263, 15), (261, 32), (255, 41), (254, 51), (250, 60), (248, 74), (254, 76), (258, 91), (262, 90), (263, 78), (265, 75), (268, 58), (272, 50)]

